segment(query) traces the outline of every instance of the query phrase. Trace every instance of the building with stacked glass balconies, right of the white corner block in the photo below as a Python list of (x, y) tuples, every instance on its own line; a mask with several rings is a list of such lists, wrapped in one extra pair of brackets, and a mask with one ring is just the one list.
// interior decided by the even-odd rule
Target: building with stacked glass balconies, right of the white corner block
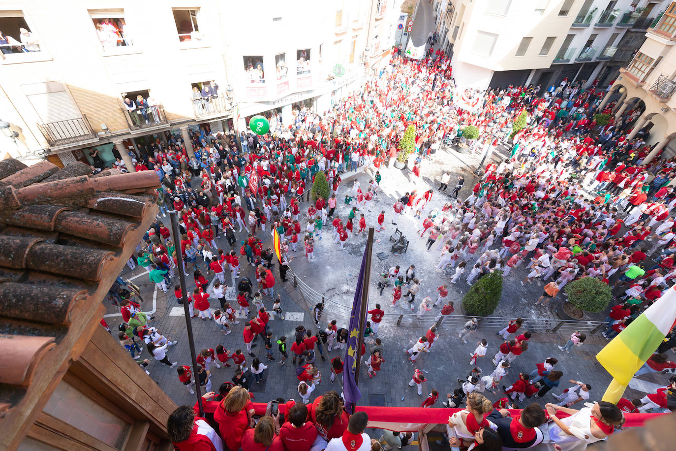
[(667, 5), (667, 0), (585, 0), (552, 66), (537, 70), (531, 82), (547, 87), (568, 78), (607, 86), (631, 60), (646, 30)]

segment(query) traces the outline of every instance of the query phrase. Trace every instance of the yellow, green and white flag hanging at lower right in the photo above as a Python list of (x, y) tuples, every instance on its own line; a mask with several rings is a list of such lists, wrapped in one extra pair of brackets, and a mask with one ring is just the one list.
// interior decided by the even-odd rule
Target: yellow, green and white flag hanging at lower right
[(613, 377), (604, 401), (620, 400), (631, 377), (660, 346), (675, 321), (676, 289), (671, 287), (596, 354), (596, 360)]

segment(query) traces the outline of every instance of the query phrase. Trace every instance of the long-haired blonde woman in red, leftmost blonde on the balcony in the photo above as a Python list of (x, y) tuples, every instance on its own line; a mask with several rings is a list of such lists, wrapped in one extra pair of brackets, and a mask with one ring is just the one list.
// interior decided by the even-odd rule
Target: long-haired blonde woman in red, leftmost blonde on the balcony
[(220, 436), (231, 450), (239, 450), (242, 437), (250, 427), (251, 418), (247, 412), (249, 403), (249, 391), (238, 385), (228, 391), (214, 412)]

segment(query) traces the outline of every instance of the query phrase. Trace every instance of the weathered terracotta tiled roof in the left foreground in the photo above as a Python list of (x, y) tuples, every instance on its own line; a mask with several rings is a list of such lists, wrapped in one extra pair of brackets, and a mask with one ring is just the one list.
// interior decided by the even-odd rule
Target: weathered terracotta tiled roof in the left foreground
[(99, 281), (120, 270), (127, 237), (137, 242), (155, 214), (155, 172), (90, 172), (0, 161), (0, 417), (68, 335), (74, 309), (101, 301)]

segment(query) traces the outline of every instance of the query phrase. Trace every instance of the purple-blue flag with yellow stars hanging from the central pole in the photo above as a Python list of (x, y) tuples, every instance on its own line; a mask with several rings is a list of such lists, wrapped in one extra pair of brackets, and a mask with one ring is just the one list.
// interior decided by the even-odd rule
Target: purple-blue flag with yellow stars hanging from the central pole
[[(357, 387), (355, 374), (359, 371), (359, 362), (361, 359), (361, 350), (357, 349), (359, 334), (364, 333), (360, 330), (359, 314), (362, 310), (362, 289), (364, 289), (364, 271), (366, 270), (366, 252), (364, 250), (362, 257), (362, 268), (359, 270), (357, 279), (357, 288), (354, 291), (354, 301), (352, 302), (352, 314), (349, 317), (349, 335), (347, 336), (347, 350), (343, 358), (343, 394), (345, 395), (345, 406), (349, 411), (354, 410), (354, 406), (362, 398), (362, 392)], [(364, 318), (365, 320), (366, 318)], [(366, 324), (362, 321), (362, 325)]]

